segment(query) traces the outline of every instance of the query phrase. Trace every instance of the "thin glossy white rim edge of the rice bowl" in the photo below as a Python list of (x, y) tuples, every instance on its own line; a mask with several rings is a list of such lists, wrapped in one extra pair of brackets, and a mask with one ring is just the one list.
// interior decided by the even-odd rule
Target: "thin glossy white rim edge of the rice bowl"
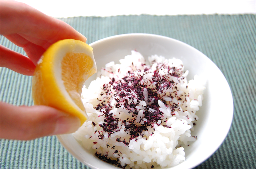
[[(167, 36), (156, 35), (156, 34), (150, 34), (150, 33), (125, 33), (125, 34), (120, 34), (120, 35), (113, 35), (113, 36), (109, 36), (109, 37), (106, 37), (106, 38), (103, 38), (103, 39), (99, 39), (99, 40), (97, 40), (97, 41), (95, 41), (95, 42), (90, 43), (89, 45), (90, 45), (90, 46), (93, 46), (93, 45), (95, 45), (95, 44), (104, 43), (105, 41), (113, 40), (113, 39), (116, 39), (116, 38), (126, 38), (126, 37), (129, 37), (129, 38), (130, 38), (131, 36), (151, 36), (151, 37), (156, 37), (156, 38), (169, 39), (169, 40), (178, 42), (178, 43), (180, 43), (180, 44), (182, 44), (182, 45), (185, 45), (186, 47), (193, 48), (193, 50), (197, 50), (198, 52), (200, 52), (201, 54), (203, 54), (201, 51), (199, 51), (199, 50), (196, 49), (195, 47), (190, 46), (189, 44), (186, 44), (185, 42), (182, 42), (182, 41), (179, 41), (179, 40), (177, 40), (177, 39), (173, 39), (173, 38), (170, 38), (170, 37), (167, 37)], [(207, 59), (209, 59), (210, 62), (212, 62), (212, 63), (216, 66), (216, 64), (215, 64), (209, 57), (207, 57), (205, 54), (203, 54), (203, 55), (204, 55)], [(216, 67), (218, 68), (218, 66), (216, 66)], [(219, 68), (218, 68), (218, 69), (219, 69)], [(219, 71), (221, 71), (221, 70), (219, 69)], [(221, 71), (221, 74), (224, 76), (224, 74), (222, 73), (222, 71)], [(224, 78), (225, 78), (225, 76), (224, 76)], [(226, 78), (225, 78), (225, 81), (226, 81), (226, 83), (228, 84)], [(229, 120), (230, 120), (230, 121), (229, 121), (230, 124), (228, 124), (229, 128), (228, 128), (228, 129), (227, 129), (227, 128), (225, 129), (225, 130), (226, 130), (226, 132), (225, 132), (225, 137), (222, 138), (222, 140), (221, 140), (221, 142), (219, 142), (218, 146), (215, 147), (214, 151), (212, 151), (211, 153), (207, 154), (207, 155), (201, 160), (201, 163), (203, 163), (205, 160), (207, 160), (208, 158), (210, 158), (210, 157), (219, 149), (219, 147), (222, 145), (222, 143), (224, 142), (225, 138), (227, 137), (227, 134), (228, 134), (229, 131), (230, 131), (231, 124), (232, 124), (232, 122), (233, 122), (234, 104), (233, 104), (233, 95), (232, 95), (232, 92), (231, 92), (231, 89), (230, 89), (229, 84), (228, 84), (228, 87), (229, 87), (229, 90), (228, 90), (227, 92), (229, 92), (229, 94), (231, 95), (231, 100), (230, 100), (230, 101), (232, 102), (231, 110), (230, 110), (230, 112), (231, 112), (230, 116), (232, 116), (232, 118), (229, 119)], [(79, 161), (81, 161), (82, 163), (86, 164), (88, 167), (98, 169), (97, 167), (93, 166), (92, 164), (89, 164), (89, 163), (87, 163), (86, 161), (84, 161), (81, 157), (75, 156), (75, 155), (74, 155), (75, 152), (74, 152), (71, 148), (69, 148), (69, 146), (67, 146), (67, 145), (64, 143), (64, 140), (63, 140), (63, 138), (61, 137), (61, 136), (64, 136), (64, 135), (70, 135), (70, 134), (57, 135), (57, 139), (60, 141), (61, 145), (64, 146), (64, 148), (67, 149), (67, 151), (68, 151), (69, 153), (71, 153), (75, 158), (77, 158), (77, 159), (78, 159)], [(196, 166), (198, 166), (198, 165), (201, 164), (201, 163), (197, 163), (197, 164), (195, 164), (195, 165), (193, 165), (193, 166), (190, 166), (189, 168), (196, 167)], [(179, 165), (178, 165), (178, 166), (179, 166)], [(115, 166), (113, 166), (113, 168), (115, 168)], [(176, 167), (174, 166), (174, 167), (171, 167), (171, 168), (176, 168)]]

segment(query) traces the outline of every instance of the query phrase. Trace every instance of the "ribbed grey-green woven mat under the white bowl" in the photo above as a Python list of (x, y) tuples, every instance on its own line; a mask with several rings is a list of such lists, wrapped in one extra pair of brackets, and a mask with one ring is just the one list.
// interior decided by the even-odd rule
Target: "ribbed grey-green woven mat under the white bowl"
[[(220, 148), (196, 168), (256, 168), (256, 15), (139, 15), (61, 20), (86, 36), (88, 44), (118, 34), (152, 33), (178, 39), (208, 56), (230, 85), (234, 117)], [(25, 54), (1, 35), (0, 44)], [(32, 77), (0, 68), (0, 100), (32, 105), (31, 80)], [(72, 157), (55, 136), (50, 136), (31, 141), (0, 139), (0, 168), (89, 167)]]

